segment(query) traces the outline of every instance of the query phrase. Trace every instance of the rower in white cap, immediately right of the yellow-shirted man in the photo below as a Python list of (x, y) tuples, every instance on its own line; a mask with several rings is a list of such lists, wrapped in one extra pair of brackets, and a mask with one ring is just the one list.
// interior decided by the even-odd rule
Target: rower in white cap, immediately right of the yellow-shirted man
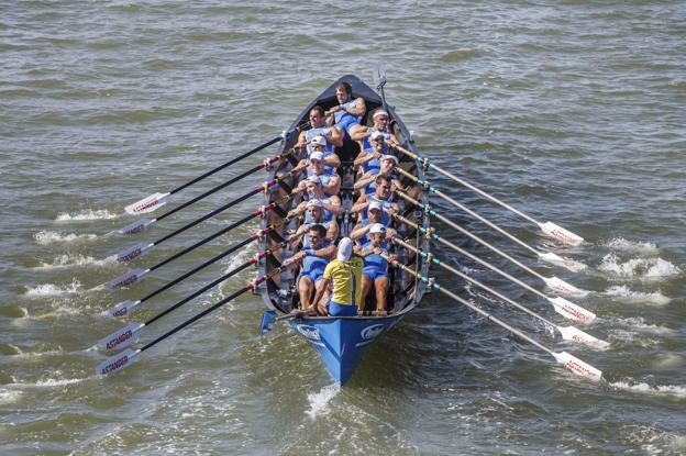
[[(369, 230), (369, 242), (357, 247), (357, 254), (364, 258), (362, 270), (362, 302), (358, 312), (365, 310), (367, 294), (376, 292), (376, 312), (386, 312), (386, 291), (388, 291), (388, 262), (381, 256), (388, 256), (386, 247), (386, 226), (374, 223)], [(395, 255), (391, 255), (395, 257)]]

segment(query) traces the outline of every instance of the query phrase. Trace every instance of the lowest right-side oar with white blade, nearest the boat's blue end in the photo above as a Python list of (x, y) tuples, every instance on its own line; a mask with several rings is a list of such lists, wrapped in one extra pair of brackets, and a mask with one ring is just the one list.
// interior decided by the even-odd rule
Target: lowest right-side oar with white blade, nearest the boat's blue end
[(471, 303), (469, 301), (467, 301), (465, 299), (462, 299), (457, 294), (446, 290), (445, 288), (441, 287), (439, 283), (434, 282), (432, 279), (429, 279), (429, 278), (422, 276), (421, 274), (416, 273), (414, 270), (412, 270), (411, 268), (405, 266), (403, 264), (394, 260), (388, 255), (381, 254), (381, 256), (389, 264), (391, 264), (391, 265), (394, 265), (396, 267), (401, 268), (402, 270), (405, 270), (406, 273), (410, 274), (413, 277), (417, 277), (419, 280), (421, 280), (424, 283), (427, 283), (430, 288), (433, 288), (434, 290), (443, 292), (444, 294), (446, 294), (447, 297), (454, 299), (455, 301), (460, 302), (461, 304), (466, 305), (467, 308), (469, 308), (473, 311), (477, 312), (482, 316), (485, 316), (487, 320), (496, 323), (497, 325), (499, 325), (501, 327), (505, 327), (506, 330), (508, 330), (512, 334), (519, 336), (523, 341), (529, 342), (530, 344), (532, 344), (532, 345), (541, 348), (542, 351), (546, 352), (547, 354), (553, 356), (555, 358), (555, 360), (557, 360), (557, 363), (563, 364), (567, 369), (572, 370), (574, 374), (583, 376), (583, 377), (587, 377), (587, 378), (590, 378), (590, 379), (594, 379), (594, 380), (600, 380), (602, 378), (602, 372), (599, 369), (593, 367), (591, 365), (580, 360), (579, 358), (568, 354), (567, 352), (562, 352), (562, 353), (553, 352), (552, 349), (547, 348), (543, 344), (541, 344), (541, 343), (534, 341), (533, 338), (529, 337), (527, 334), (522, 333), (521, 331), (510, 326), (509, 324), (507, 324), (504, 321), (495, 318), (494, 315), (491, 315), (490, 313), (486, 312), (485, 310), (479, 309), (477, 305)]

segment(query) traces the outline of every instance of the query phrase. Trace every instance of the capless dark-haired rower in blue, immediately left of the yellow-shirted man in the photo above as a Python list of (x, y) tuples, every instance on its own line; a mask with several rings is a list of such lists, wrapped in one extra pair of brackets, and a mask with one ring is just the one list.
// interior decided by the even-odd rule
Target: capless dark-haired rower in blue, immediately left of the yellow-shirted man
[(324, 269), (336, 252), (335, 245), (325, 240), (327, 230), (319, 224), (308, 229), (309, 247), (305, 248), (286, 262), (284, 265), (292, 267), (302, 263), (302, 269), (298, 275), (298, 294), (300, 296), (300, 309), (309, 310), (312, 307), (312, 298), (317, 285), (324, 275)]

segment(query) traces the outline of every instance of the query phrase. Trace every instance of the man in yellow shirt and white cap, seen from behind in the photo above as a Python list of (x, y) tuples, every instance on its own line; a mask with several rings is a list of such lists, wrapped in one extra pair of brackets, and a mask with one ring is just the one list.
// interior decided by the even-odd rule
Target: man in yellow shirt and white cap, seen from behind
[[(362, 302), (362, 268), (364, 259), (353, 254), (353, 241), (343, 237), (339, 243), (336, 259), (329, 263), (317, 287), (314, 302), (320, 314), (355, 316)], [(322, 299), (331, 292), (329, 302)]]

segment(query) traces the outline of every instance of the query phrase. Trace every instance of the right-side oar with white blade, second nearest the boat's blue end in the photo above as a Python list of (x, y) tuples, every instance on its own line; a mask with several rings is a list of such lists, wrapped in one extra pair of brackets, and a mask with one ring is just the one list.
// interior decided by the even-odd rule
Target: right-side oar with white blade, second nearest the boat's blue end
[(421, 255), (422, 258), (424, 258), (428, 263), (433, 263), (434, 265), (441, 266), (443, 269), (456, 275), (457, 277), (476, 285), (477, 287), (483, 288), (484, 290), (488, 291), (489, 293), (494, 294), (495, 297), (501, 299), (502, 301), (509, 303), (510, 305), (516, 307), (517, 309), (521, 310), (522, 312), (528, 313), (529, 315), (533, 316), (534, 319), (542, 321), (543, 323), (545, 323), (546, 325), (549, 325), (550, 327), (554, 327), (555, 330), (557, 330), (557, 332), (562, 335), (562, 338), (564, 338), (565, 341), (572, 341), (572, 342), (576, 342), (579, 344), (585, 344), (585, 345), (589, 345), (593, 347), (597, 347), (597, 348), (606, 348), (607, 346), (609, 346), (610, 344), (601, 341), (597, 337), (591, 336), (590, 334), (585, 333), (584, 331), (574, 327), (574, 326), (557, 326), (556, 324), (554, 324), (553, 322), (551, 322), (550, 320), (545, 319), (542, 315), (539, 315), (538, 313), (533, 312), (532, 310), (530, 310), (529, 308), (511, 300), (510, 298), (504, 296), (502, 293), (494, 290), (493, 288), (488, 287), (487, 285), (480, 282), (479, 280), (476, 280), (475, 278), (472, 278), (469, 276), (467, 276), (466, 274), (446, 265), (445, 263), (441, 262), (440, 259), (438, 259), (435, 256), (433, 256), (433, 254), (427, 253), (421, 251), (420, 248), (414, 247), (411, 244), (408, 244), (405, 241), (398, 240), (398, 238), (394, 238), (392, 240), (394, 243), (407, 248), (410, 252), (413, 252), (414, 254), (419, 254)]

